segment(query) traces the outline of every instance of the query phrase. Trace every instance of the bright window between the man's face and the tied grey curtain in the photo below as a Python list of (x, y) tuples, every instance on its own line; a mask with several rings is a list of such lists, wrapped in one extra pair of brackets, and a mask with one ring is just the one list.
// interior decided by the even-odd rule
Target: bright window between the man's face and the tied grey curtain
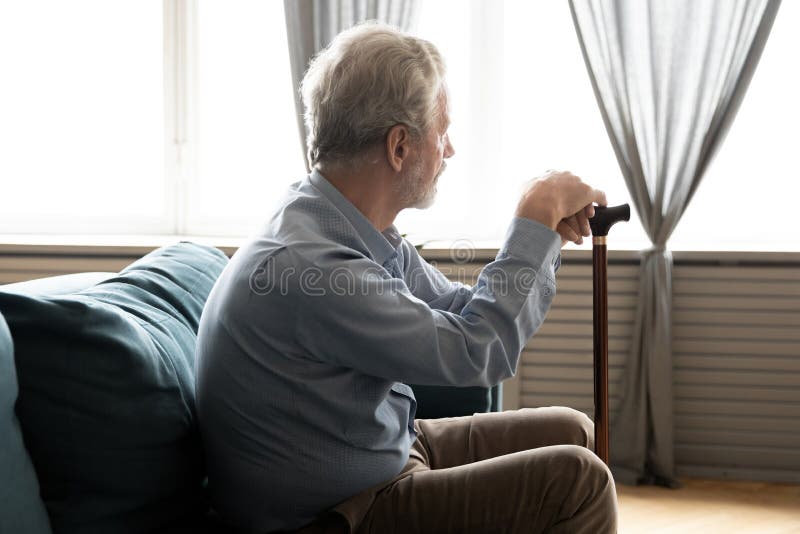
[[(404, 214), (412, 238), (443, 228), (432, 237), (496, 242), (524, 184), (548, 169), (571, 170), (611, 203), (628, 201), (566, 2), (436, 0), (421, 15), (418, 33), (448, 63), (456, 156), (430, 212)], [(458, 204), (448, 203), (449, 189)], [(627, 226), (629, 236), (615, 229), (615, 244), (645, 239)]]

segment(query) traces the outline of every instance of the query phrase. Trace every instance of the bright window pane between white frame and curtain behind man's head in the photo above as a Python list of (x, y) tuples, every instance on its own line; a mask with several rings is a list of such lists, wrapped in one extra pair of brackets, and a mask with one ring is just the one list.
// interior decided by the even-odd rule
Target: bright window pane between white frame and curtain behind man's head
[(305, 176), (283, 2), (198, 6), (191, 233), (247, 235)]

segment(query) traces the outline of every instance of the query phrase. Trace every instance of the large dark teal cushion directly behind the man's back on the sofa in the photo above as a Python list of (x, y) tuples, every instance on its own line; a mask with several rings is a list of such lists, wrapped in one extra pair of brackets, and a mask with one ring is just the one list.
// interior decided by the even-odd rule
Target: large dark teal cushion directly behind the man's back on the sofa
[(54, 531), (151, 532), (202, 513), (195, 339), (226, 263), (180, 243), (72, 295), (0, 293)]

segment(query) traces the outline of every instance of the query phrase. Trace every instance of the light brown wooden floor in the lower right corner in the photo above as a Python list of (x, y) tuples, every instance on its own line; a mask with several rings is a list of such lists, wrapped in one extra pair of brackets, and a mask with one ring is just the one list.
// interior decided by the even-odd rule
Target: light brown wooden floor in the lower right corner
[(618, 485), (620, 534), (800, 534), (800, 486), (682, 482), (677, 490)]

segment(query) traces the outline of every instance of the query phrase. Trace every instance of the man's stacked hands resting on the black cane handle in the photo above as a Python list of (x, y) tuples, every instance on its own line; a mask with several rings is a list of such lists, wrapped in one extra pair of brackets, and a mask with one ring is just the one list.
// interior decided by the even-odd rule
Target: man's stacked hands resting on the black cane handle
[(570, 172), (549, 171), (528, 186), (516, 215), (558, 232), (562, 246), (567, 241), (581, 244), (583, 236), (591, 234), (589, 219), (594, 216), (593, 203), (605, 206), (605, 193), (583, 183)]

